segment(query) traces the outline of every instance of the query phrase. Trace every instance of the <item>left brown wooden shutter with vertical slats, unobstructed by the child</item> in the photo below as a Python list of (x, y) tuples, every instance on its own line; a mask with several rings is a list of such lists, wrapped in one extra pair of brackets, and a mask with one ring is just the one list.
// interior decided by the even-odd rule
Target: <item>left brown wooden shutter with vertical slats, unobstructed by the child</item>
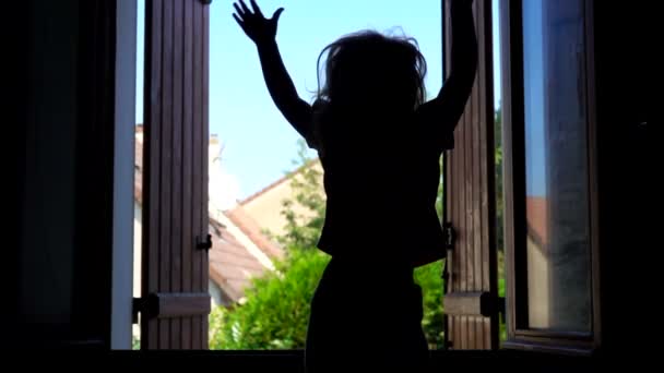
[(141, 348), (206, 349), (209, 9), (145, 7)]

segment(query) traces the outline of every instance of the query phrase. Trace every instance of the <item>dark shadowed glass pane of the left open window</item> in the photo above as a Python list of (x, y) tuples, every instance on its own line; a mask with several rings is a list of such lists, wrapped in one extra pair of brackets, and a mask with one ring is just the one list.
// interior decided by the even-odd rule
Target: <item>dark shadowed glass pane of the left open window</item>
[(33, 0), (29, 14), (19, 310), (52, 333), (72, 312), (78, 11), (78, 1)]

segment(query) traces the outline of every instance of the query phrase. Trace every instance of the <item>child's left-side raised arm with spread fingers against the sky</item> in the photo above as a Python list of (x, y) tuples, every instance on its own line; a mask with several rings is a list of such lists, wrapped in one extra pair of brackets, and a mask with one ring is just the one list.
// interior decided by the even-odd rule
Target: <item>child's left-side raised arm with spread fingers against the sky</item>
[(265, 19), (254, 0), (251, 0), (253, 11), (249, 10), (242, 0), (239, 1), (239, 4), (234, 3), (233, 7), (235, 7), (237, 13), (233, 14), (233, 17), (245, 34), (256, 43), (263, 77), (272, 100), (295, 130), (305, 139), (309, 139), (311, 133), (311, 106), (297, 95), (275, 40), (278, 17), (284, 9), (277, 9), (272, 19)]

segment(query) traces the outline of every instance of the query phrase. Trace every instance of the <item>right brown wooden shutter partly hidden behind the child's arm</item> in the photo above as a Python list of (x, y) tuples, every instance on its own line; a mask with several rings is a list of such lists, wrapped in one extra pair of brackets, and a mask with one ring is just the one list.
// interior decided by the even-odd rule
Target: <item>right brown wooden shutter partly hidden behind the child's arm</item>
[[(448, 67), (449, 5), (448, 0), (444, 23)], [(473, 7), (479, 48), (477, 76), (454, 132), (454, 149), (449, 152), (446, 164), (446, 219), (455, 232), (454, 245), (448, 251), (446, 340), (448, 348), (458, 350), (498, 346), (491, 1), (475, 0)]]

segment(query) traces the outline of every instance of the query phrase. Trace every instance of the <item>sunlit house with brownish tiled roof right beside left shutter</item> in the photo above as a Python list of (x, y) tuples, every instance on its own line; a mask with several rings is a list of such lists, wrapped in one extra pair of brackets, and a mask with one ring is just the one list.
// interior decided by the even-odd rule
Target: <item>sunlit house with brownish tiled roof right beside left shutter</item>
[[(134, 278), (141, 278), (141, 206), (143, 179), (143, 127), (135, 129), (135, 164), (134, 164)], [(241, 302), (245, 289), (250, 279), (260, 276), (265, 270), (274, 269), (273, 258), (282, 257), (283, 251), (270, 241), (260, 226), (249, 216), (237, 210), (228, 214), (224, 210), (224, 201), (228, 200), (218, 189), (220, 143), (216, 136), (210, 139), (210, 204), (209, 231), (212, 236), (210, 250), (210, 296), (213, 306), (229, 306)], [(214, 188), (212, 186), (214, 185)], [(141, 285), (134, 281), (134, 297), (140, 297)], [(134, 327), (138, 333), (138, 328)]]

